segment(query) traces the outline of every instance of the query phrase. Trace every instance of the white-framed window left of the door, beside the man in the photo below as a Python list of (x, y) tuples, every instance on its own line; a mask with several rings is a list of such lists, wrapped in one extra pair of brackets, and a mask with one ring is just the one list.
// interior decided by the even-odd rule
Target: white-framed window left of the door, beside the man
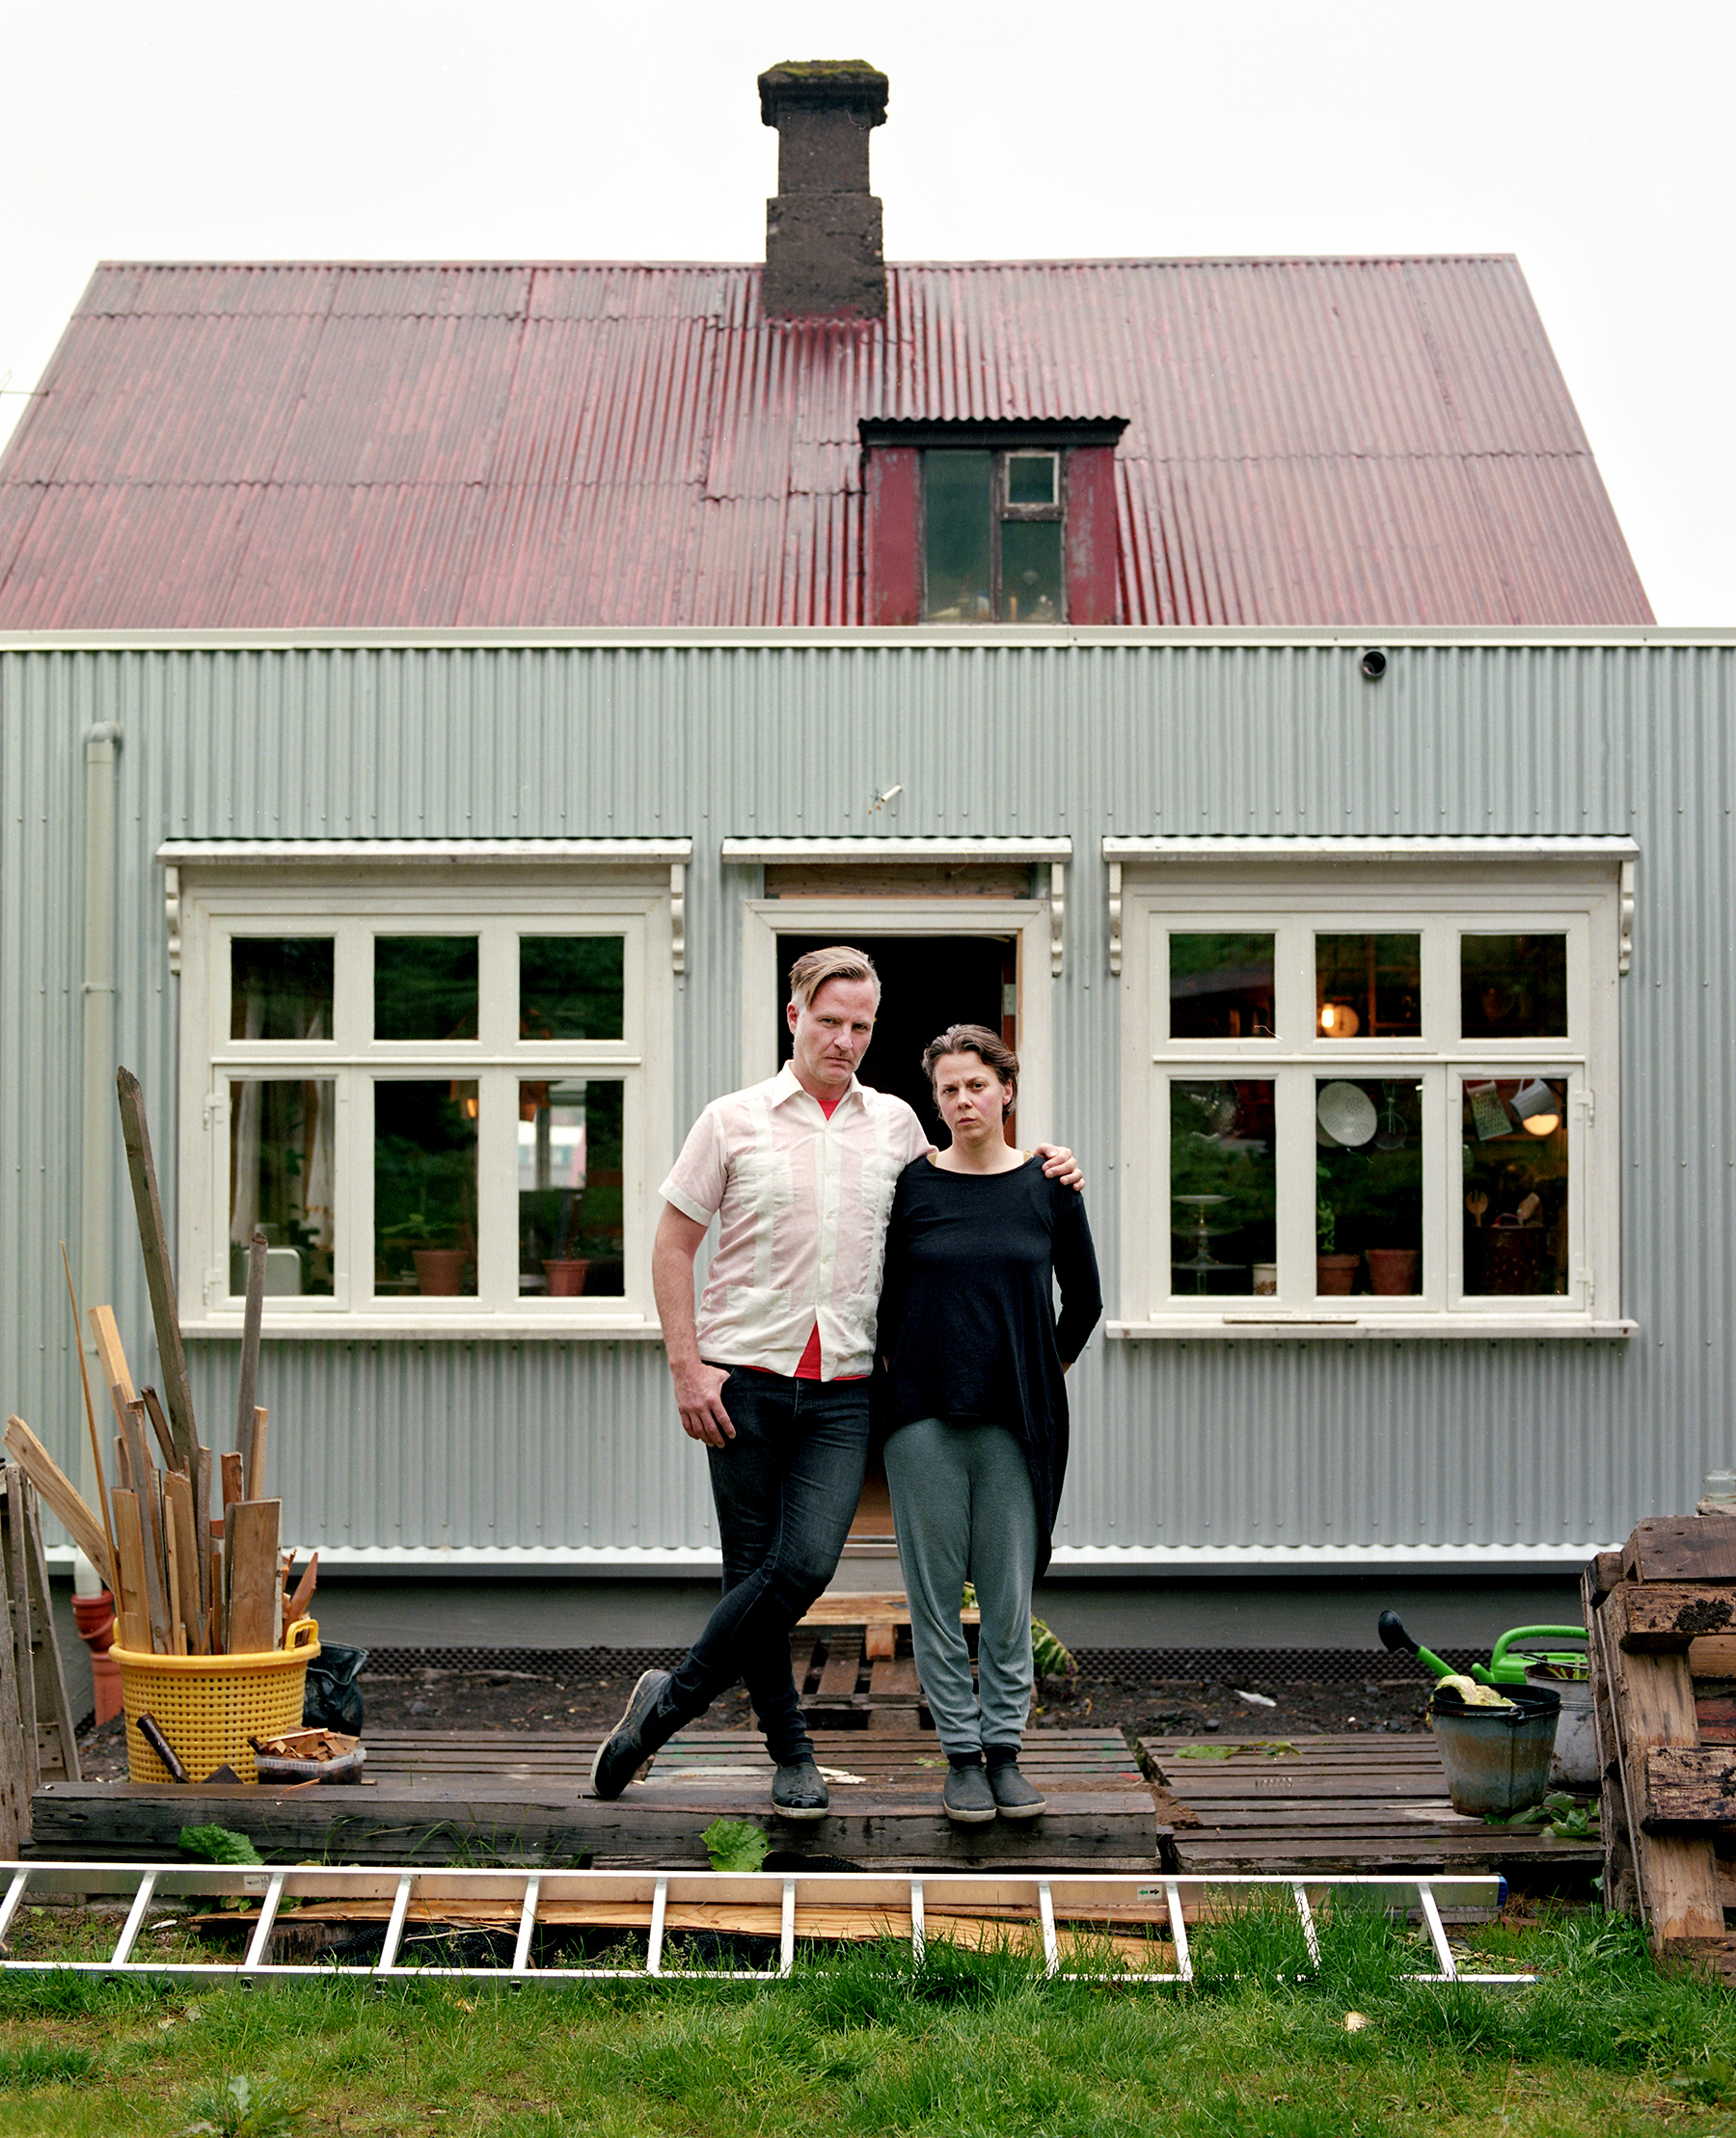
[(686, 853), (165, 847), (184, 1326), (654, 1334)]

